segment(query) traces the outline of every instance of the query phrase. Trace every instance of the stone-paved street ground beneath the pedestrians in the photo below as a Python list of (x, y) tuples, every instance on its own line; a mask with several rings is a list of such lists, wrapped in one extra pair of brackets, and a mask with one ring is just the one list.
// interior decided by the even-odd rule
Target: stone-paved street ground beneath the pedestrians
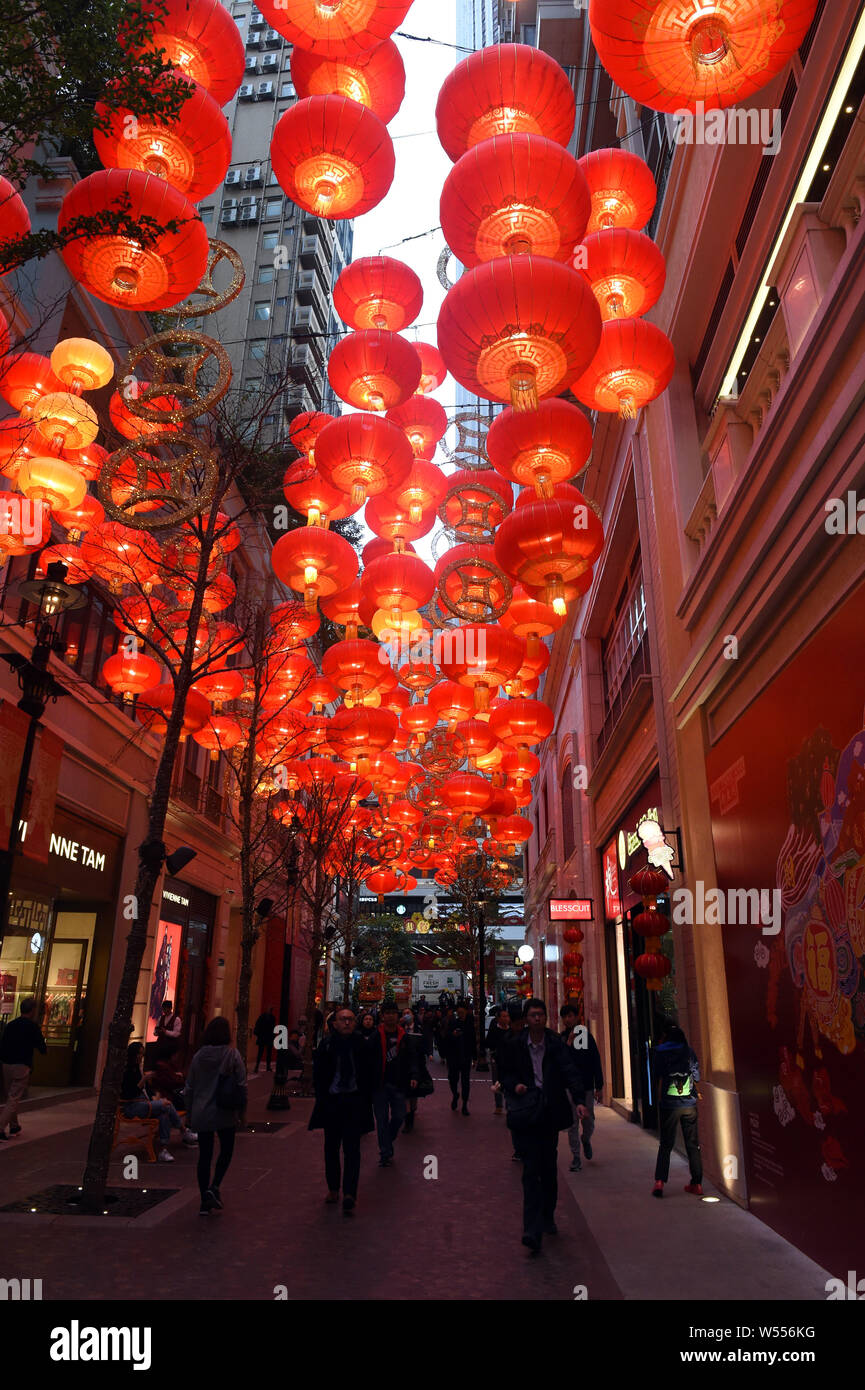
[[(196, 1150), (174, 1145), (174, 1163), (150, 1165), (139, 1184), (178, 1188), (138, 1220), (0, 1213), (4, 1277), (43, 1280), (45, 1300), (556, 1300), (584, 1286), (590, 1300), (825, 1300), (819, 1269), (733, 1202), (681, 1191), (687, 1168), (673, 1155), (669, 1195), (649, 1195), (655, 1141), (601, 1109), (595, 1158), (570, 1175), (559, 1144), (558, 1237), (533, 1259), (520, 1244), (520, 1166), (487, 1077), (473, 1077), (471, 1115), (453, 1113), (439, 1063), (435, 1094), (416, 1129), (401, 1134), (392, 1168), (363, 1144), (353, 1218), (325, 1207), (323, 1137), (306, 1129), (310, 1101), (268, 1115), (270, 1077), (250, 1079), (250, 1119), (284, 1122), (239, 1134), (223, 1195), (225, 1209), (197, 1215)], [(24, 1134), (0, 1147), (0, 1200), (81, 1180), (92, 1099), (22, 1115)], [(437, 1159), (438, 1176), (426, 1177)], [(111, 1183), (122, 1183), (121, 1155)], [(706, 1186), (706, 1193), (712, 1188)], [(21, 1268), (15, 1268), (21, 1265)]]

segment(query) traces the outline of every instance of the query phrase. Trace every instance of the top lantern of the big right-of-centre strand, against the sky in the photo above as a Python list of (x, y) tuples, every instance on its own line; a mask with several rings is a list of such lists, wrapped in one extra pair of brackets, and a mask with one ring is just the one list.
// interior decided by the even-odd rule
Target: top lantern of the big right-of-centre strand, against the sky
[(544, 135), (567, 145), (574, 93), (565, 70), (541, 49), (501, 43), (464, 58), (442, 83), (438, 138), (452, 160), (494, 135)]

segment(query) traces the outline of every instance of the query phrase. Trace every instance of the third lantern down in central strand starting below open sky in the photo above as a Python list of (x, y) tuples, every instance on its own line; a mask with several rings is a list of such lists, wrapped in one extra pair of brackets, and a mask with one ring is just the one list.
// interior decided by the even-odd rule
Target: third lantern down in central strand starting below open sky
[(402, 430), (378, 416), (339, 416), (318, 435), (316, 461), (324, 478), (357, 507), (394, 492), (412, 471), (412, 446)]

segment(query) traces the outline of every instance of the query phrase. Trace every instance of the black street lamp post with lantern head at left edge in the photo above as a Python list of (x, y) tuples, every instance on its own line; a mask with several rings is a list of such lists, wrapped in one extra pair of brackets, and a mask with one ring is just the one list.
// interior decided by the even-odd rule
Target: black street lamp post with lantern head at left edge
[(51, 655), (63, 656), (67, 649), (67, 644), (60, 637), (57, 620), (71, 609), (82, 607), (86, 603), (86, 595), (75, 585), (67, 584), (65, 575), (67, 567), (63, 560), (54, 560), (46, 567), (43, 580), (24, 580), (15, 585), (14, 592), (39, 609), (33, 621), (36, 641), (29, 659), (21, 652), (3, 652), (0, 655), (0, 660), (4, 660), (18, 678), (18, 689), (21, 691), (18, 709), (29, 716), (13, 805), (8, 848), (0, 852), (0, 942), (8, 926), (13, 867), (21, 841), (21, 816), (36, 745), (36, 730), (47, 702), (57, 701), (67, 694), (49, 671)]

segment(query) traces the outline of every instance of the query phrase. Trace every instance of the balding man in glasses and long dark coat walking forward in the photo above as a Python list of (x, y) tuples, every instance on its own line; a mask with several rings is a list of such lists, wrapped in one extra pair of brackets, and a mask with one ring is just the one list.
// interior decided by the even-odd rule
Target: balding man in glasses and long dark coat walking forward
[(339, 1201), (346, 1216), (357, 1202), (360, 1137), (374, 1127), (374, 1052), (356, 1031), (355, 1011), (342, 1005), (334, 1027), (316, 1048), (313, 1086), (316, 1105), (309, 1127), (324, 1130), (324, 1176), (328, 1205)]

